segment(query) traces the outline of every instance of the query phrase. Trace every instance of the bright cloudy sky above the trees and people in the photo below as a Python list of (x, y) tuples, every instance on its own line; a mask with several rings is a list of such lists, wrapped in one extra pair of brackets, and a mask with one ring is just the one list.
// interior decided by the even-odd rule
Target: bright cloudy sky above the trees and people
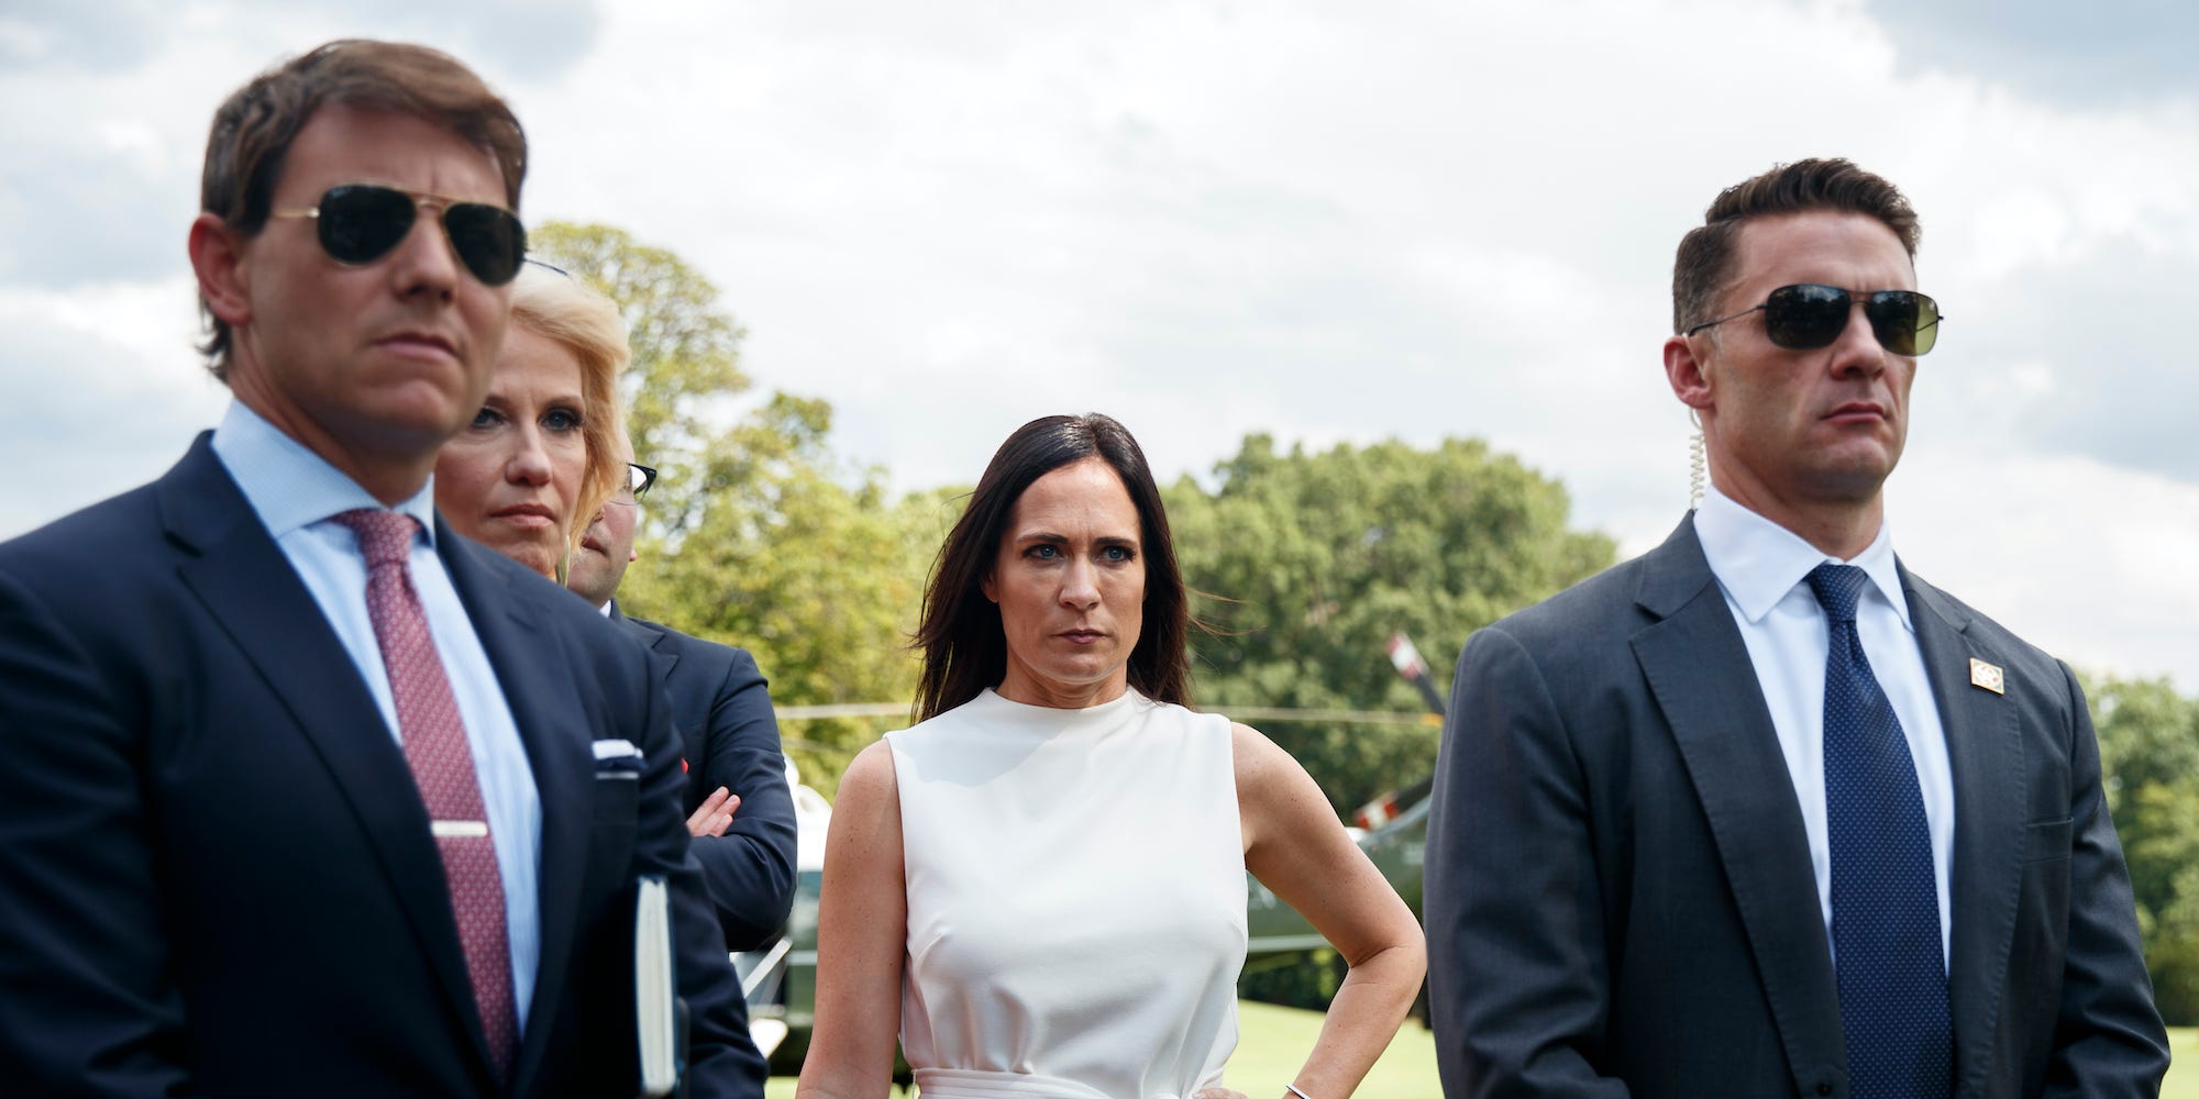
[(902, 488), (1053, 411), (1163, 475), (1249, 431), (1482, 435), (1627, 552), (1687, 506), (1673, 244), (1724, 185), (1856, 158), (1922, 211), (1951, 317), (1902, 556), (2199, 690), (2192, 4), (7, 0), (0, 536), (220, 415), (183, 248), (207, 121), (339, 35), (482, 70), (528, 220), (686, 255), (761, 387), (831, 400)]

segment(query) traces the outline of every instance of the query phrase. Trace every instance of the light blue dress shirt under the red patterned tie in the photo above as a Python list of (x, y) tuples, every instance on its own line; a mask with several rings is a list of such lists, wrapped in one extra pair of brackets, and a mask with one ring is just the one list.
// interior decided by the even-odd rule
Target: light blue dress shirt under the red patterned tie
[[(321, 455), (284, 435), (242, 402), (231, 402), (222, 424), (213, 429), (213, 455), (244, 490), (268, 536), (312, 591), (321, 618), (336, 631), (343, 651), (367, 681), (374, 706), (383, 710), (389, 736), (402, 745), (398, 703), (389, 690), (389, 670), (367, 618), (367, 558), (350, 528), (330, 517), (354, 508), (380, 508), (365, 488), (330, 466)], [(442, 673), (451, 679), (457, 717), (466, 723), (473, 747), (473, 776), (488, 811), (488, 835), (497, 848), (497, 873), (504, 875), (504, 925), (512, 950), (512, 1004), (526, 1033), (528, 1004), (534, 998), (534, 972), (541, 958), (541, 914), (537, 903), (537, 866), (541, 862), (543, 811), (534, 791), (528, 750), (519, 741), (519, 723), (497, 686), (495, 666), (473, 620), (451, 587), (451, 574), (435, 556), (435, 481), (429, 479), (411, 499), (394, 510), (420, 521), (413, 539), (413, 591), (427, 611), (427, 629), (435, 637)]]

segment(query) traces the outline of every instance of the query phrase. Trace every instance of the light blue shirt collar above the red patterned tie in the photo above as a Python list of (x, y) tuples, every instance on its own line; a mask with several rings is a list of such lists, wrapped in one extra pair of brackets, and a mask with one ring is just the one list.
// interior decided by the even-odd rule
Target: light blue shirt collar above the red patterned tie
[[(213, 455), (244, 490), (244, 501), (253, 506), (270, 539), (281, 539), (292, 530), (354, 508), (383, 508), (383, 501), (374, 499), (358, 481), (330, 466), (306, 444), (284, 435), (242, 400), (231, 400), (229, 413), (213, 429)], [(418, 519), (420, 530), (427, 532), (429, 550), (435, 547), (433, 475), (418, 492), (389, 510)]]

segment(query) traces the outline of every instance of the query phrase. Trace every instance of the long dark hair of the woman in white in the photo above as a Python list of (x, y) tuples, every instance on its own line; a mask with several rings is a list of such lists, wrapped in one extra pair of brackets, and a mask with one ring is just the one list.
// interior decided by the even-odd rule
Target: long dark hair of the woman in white
[(992, 455), (985, 477), (970, 492), (924, 589), (924, 622), (915, 646), (924, 651), (917, 684), (917, 721), (943, 714), (1007, 675), (1007, 635), (1001, 607), (981, 585), (1001, 554), (1001, 536), (1016, 501), (1031, 481), (1086, 457), (1115, 468), (1137, 506), (1139, 541), (1146, 554), (1143, 629), (1130, 651), (1130, 686), (1154, 701), (1192, 703), (1192, 662), (1185, 640), (1192, 626), (1190, 598), (1176, 569), (1176, 543), (1168, 534), (1161, 488), (1152, 484), (1146, 451), (1113, 418), (1047, 415), (1016, 429)]

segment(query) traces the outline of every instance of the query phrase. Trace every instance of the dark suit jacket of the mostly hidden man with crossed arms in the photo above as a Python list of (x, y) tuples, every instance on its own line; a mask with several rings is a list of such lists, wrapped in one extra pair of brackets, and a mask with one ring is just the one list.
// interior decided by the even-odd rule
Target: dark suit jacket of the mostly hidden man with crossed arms
[(647, 644), (664, 668), (673, 732), (688, 767), (682, 807), (693, 813), (717, 787), (741, 798), (726, 835), (695, 840), (693, 853), (710, 884), (726, 950), (765, 947), (794, 906), (794, 793), (756, 657), (627, 618), (618, 602), (611, 622)]

